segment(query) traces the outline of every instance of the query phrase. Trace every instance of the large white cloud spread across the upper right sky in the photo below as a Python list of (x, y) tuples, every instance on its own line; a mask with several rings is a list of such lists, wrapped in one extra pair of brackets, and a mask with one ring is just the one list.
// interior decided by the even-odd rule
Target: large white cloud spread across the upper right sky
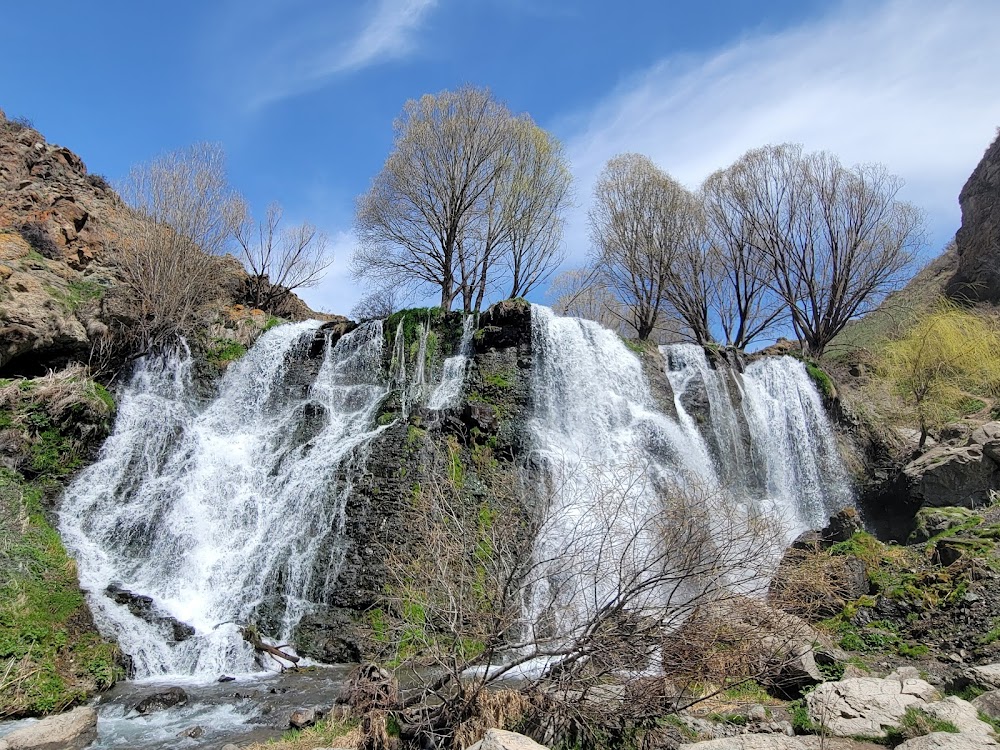
[(587, 204), (611, 156), (645, 153), (694, 187), (747, 149), (780, 142), (886, 164), (927, 211), (938, 249), (1000, 125), (998, 25), (994, 0), (848, 2), (806, 25), (662, 59), (555, 123), (581, 203), (570, 263), (586, 254)]

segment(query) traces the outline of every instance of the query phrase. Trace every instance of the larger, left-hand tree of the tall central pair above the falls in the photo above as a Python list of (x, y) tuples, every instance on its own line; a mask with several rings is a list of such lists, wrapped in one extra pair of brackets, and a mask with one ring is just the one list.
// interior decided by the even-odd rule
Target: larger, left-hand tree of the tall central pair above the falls
[(437, 287), (441, 307), (451, 308), (460, 246), (503, 167), (509, 120), (485, 89), (406, 103), (393, 151), (358, 201), (355, 276)]

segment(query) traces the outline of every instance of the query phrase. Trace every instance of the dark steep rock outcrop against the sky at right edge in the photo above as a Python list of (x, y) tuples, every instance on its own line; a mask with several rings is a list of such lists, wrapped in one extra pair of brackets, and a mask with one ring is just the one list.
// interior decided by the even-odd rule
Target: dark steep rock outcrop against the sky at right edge
[(969, 176), (958, 202), (958, 270), (947, 293), (959, 300), (1000, 303), (1000, 137)]

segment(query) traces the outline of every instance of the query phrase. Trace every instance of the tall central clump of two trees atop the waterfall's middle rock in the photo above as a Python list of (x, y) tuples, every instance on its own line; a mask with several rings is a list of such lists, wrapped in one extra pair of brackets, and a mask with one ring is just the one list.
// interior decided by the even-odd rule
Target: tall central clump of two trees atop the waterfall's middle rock
[(431, 287), (478, 309), (506, 265), (524, 294), (558, 265), (569, 176), (562, 149), (488, 90), (406, 103), (392, 153), (358, 201), (356, 278)]

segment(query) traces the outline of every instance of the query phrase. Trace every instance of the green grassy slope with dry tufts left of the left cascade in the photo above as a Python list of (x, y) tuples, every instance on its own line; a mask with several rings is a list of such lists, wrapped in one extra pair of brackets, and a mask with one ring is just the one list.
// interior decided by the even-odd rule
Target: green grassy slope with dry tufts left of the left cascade
[(61, 710), (122, 676), (45, 512), (113, 406), (80, 369), (0, 381), (0, 718)]

